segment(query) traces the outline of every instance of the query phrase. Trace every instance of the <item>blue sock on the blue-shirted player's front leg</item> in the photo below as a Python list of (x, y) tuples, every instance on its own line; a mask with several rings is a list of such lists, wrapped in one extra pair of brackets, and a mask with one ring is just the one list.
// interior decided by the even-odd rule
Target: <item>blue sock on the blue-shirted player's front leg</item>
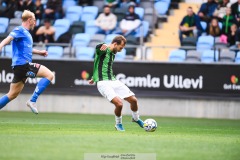
[(47, 78), (42, 78), (37, 86), (35, 91), (33, 92), (32, 98), (30, 99), (31, 102), (36, 102), (38, 96), (47, 88), (47, 86), (51, 83)]

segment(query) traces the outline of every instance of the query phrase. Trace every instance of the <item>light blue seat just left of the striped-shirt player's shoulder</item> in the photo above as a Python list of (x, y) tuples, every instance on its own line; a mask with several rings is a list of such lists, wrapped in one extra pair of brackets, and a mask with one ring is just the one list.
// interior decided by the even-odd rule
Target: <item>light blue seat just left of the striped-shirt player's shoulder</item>
[(76, 58), (80, 60), (92, 60), (95, 49), (93, 47), (77, 47)]

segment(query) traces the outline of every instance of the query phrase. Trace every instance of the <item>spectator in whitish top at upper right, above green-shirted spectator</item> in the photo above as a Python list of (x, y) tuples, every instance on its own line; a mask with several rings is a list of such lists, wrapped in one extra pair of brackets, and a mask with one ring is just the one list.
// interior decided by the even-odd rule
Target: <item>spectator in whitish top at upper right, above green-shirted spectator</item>
[(227, 13), (227, 8), (231, 6), (229, 0), (223, 0), (219, 2), (216, 10), (213, 13), (213, 16), (221, 20)]

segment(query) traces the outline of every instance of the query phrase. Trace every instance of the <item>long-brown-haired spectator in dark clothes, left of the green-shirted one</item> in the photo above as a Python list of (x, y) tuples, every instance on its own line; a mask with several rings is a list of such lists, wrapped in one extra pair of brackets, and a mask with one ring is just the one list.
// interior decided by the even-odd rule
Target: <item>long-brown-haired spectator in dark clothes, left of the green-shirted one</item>
[(221, 35), (221, 29), (218, 24), (218, 19), (213, 18), (207, 27), (207, 34), (213, 37), (219, 37)]

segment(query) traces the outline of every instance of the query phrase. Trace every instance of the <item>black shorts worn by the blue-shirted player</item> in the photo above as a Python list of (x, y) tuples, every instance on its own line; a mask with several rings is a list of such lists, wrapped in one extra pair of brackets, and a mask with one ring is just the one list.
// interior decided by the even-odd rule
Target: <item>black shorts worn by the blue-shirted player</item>
[(35, 78), (40, 66), (41, 65), (37, 63), (26, 63), (24, 65), (14, 66), (12, 83), (18, 83), (20, 81), (25, 83), (28, 77)]

